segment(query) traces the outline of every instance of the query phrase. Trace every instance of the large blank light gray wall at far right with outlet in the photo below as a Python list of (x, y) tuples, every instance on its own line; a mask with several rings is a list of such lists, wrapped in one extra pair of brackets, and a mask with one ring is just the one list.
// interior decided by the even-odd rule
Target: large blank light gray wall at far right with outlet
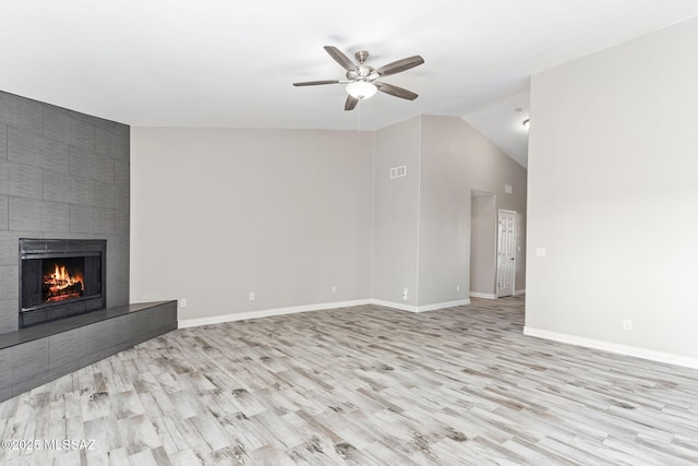
[(532, 76), (527, 328), (698, 358), (697, 57), (694, 19)]

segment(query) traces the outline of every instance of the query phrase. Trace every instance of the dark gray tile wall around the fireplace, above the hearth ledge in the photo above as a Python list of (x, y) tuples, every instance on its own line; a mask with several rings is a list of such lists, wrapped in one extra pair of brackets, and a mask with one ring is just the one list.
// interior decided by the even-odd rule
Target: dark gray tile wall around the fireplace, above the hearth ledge
[(107, 240), (107, 306), (129, 302), (130, 128), (0, 91), (0, 334), (17, 330), (19, 239)]

